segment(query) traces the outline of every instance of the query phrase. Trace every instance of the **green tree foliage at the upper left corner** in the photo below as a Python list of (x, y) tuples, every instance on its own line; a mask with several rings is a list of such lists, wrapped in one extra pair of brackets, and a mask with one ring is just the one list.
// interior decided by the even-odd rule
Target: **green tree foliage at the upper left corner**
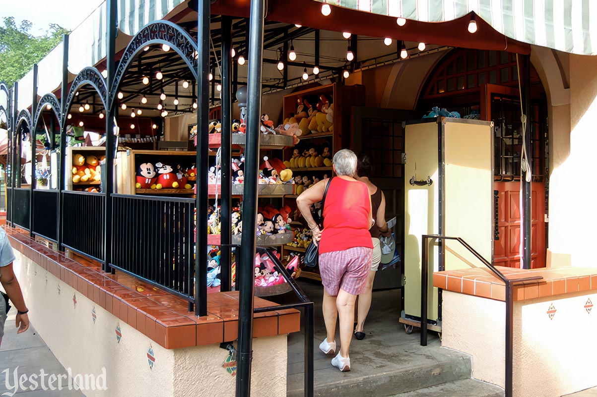
[(4, 17), (0, 24), (0, 81), (12, 86), (33, 69), (62, 40), (66, 29), (50, 24), (44, 36), (29, 33), (32, 23), (23, 20), (17, 26), (14, 17)]

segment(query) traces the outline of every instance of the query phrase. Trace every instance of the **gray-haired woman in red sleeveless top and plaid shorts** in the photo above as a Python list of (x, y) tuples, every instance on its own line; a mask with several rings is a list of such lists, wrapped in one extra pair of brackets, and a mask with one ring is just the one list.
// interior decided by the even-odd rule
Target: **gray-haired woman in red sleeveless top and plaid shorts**
[[(324, 284), (323, 312), (327, 337), (319, 345), (326, 354), (336, 353), (336, 318), (340, 317), (340, 351), (332, 365), (350, 371), (348, 349), (355, 319), (356, 296), (364, 291), (371, 269), (373, 225), (371, 198), (367, 185), (357, 181), (356, 154), (343, 149), (334, 155), (337, 178), (324, 179), (297, 198), (297, 207), (313, 231), (319, 246), (319, 272)], [(310, 206), (325, 197), (324, 229), (320, 230)]]

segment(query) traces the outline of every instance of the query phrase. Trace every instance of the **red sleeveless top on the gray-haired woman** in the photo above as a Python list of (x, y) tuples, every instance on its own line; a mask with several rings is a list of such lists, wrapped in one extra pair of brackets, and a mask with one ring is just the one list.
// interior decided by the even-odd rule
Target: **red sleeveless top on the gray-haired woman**
[(330, 183), (325, 196), (319, 253), (354, 247), (373, 248), (369, 234), (371, 206), (367, 185), (342, 178), (334, 178)]

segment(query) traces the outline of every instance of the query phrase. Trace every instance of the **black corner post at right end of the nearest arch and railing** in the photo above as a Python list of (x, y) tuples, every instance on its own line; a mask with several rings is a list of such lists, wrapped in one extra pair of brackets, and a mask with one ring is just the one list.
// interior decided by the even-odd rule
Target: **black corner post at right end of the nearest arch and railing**
[(197, 182), (195, 207), (196, 252), (195, 255), (195, 315), (207, 315), (207, 255), (201, 255), (207, 247), (207, 170), (209, 167), (208, 120), (210, 118), (210, 0), (199, 0), (197, 10)]

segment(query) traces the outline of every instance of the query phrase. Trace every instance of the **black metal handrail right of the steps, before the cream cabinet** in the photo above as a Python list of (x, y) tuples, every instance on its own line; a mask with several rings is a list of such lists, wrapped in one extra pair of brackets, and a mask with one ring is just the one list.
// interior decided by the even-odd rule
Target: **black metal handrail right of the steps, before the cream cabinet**
[[(532, 277), (517, 277), (507, 278), (500, 272), (496, 266), (491, 264), (487, 259), (483, 258), (481, 254), (476, 252), (466, 241), (460, 237), (447, 237), (438, 234), (424, 234), (421, 249), (421, 346), (427, 346), (427, 293), (429, 291), (429, 240), (456, 240), (475, 258), (479, 259), (481, 263), (487, 266), (493, 274), (504, 282), (506, 286), (506, 396), (512, 397), (512, 373), (513, 373), (513, 309), (514, 309), (514, 286), (524, 283), (525, 281), (539, 281), (543, 280), (541, 276)], [(432, 271), (433, 273), (433, 271)]]

